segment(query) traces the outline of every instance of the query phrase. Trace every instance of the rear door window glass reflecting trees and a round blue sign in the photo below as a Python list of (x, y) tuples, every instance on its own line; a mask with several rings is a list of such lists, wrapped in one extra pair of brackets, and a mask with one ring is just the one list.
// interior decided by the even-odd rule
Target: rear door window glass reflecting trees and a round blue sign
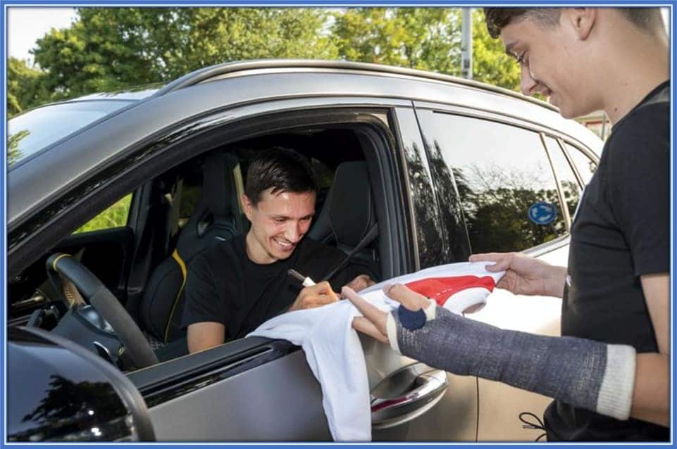
[(521, 251), (566, 234), (538, 134), (457, 115), (428, 117), (428, 148), (452, 169), (473, 253)]

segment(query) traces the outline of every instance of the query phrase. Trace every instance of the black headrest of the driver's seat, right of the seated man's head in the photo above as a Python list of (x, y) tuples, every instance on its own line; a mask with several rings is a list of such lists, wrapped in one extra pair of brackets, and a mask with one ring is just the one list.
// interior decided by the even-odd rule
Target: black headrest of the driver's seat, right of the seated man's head
[(376, 222), (364, 161), (344, 162), (336, 168), (327, 201), (337, 243), (350, 248), (357, 246)]

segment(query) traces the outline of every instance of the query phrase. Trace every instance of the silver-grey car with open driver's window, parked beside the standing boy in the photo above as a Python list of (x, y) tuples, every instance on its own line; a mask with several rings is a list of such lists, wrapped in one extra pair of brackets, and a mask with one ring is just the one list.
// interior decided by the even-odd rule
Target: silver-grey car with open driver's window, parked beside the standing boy
[[(388, 279), (485, 251), (566, 265), (602, 147), (512, 91), (341, 61), (218, 65), (35, 108), (8, 136), (9, 441), (330, 440), (300, 348), (249, 338), (188, 355), (179, 325), (173, 254), (185, 265), (247, 231), (237, 198), (261, 148), (316, 167), (306, 238)], [(495, 291), (468, 316), (557, 334), (559, 306)], [(518, 414), (547, 398), (361, 343), (374, 441), (539, 436)]]

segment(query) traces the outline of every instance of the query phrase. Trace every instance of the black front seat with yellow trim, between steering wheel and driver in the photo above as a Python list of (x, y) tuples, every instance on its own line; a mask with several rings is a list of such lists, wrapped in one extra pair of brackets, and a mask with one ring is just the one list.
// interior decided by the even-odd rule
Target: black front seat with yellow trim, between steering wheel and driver
[(230, 153), (216, 153), (204, 160), (201, 198), (174, 252), (149, 277), (139, 305), (139, 324), (155, 348), (185, 335), (181, 319), (190, 261), (219, 241), (242, 234), (238, 170), (237, 158)]

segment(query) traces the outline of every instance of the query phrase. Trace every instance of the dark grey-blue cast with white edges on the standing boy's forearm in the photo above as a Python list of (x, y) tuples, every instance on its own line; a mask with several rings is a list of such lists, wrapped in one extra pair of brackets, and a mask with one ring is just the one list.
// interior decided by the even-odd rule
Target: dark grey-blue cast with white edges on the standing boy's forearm
[(508, 331), (469, 320), (433, 301), (427, 321), (407, 329), (387, 317), (393, 349), (432, 367), (540, 393), (616, 419), (630, 416), (635, 349), (575, 337)]

